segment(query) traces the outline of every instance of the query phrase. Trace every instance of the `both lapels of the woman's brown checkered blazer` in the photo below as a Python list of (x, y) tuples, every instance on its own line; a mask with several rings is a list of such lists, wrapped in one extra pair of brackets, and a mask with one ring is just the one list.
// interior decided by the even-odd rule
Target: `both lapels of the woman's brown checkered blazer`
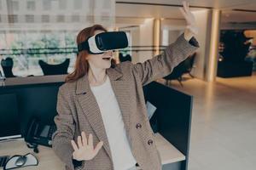
[[(125, 130), (129, 142), (131, 141), (130, 137), (130, 86), (129, 83), (125, 80), (120, 79), (123, 74), (120, 71), (109, 68), (107, 69), (107, 74), (110, 79), (113, 93), (115, 94), (119, 108), (123, 116), (123, 121), (125, 123)], [(80, 78), (77, 82), (76, 94), (78, 95), (79, 104), (84, 111), (84, 115), (87, 117), (90, 122), (90, 126), (95, 131), (98, 139), (103, 141), (103, 147), (107, 151), (108, 156), (112, 160), (110, 146), (108, 143), (108, 136), (106, 129), (102, 121), (102, 114), (99, 106), (96, 103), (96, 98), (90, 90), (90, 84), (88, 81), (87, 75)], [(86, 133), (86, 132), (85, 132)]]

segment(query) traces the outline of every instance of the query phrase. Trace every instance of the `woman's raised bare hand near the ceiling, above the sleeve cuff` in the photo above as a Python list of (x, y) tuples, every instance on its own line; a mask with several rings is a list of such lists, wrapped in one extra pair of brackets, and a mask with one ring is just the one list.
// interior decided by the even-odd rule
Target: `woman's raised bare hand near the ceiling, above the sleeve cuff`
[(198, 34), (198, 27), (196, 26), (195, 16), (189, 10), (189, 3), (185, 1), (183, 1), (183, 8), (179, 8), (179, 9), (187, 22), (187, 26), (184, 31), (184, 38), (187, 41), (189, 41), (191, 37)]

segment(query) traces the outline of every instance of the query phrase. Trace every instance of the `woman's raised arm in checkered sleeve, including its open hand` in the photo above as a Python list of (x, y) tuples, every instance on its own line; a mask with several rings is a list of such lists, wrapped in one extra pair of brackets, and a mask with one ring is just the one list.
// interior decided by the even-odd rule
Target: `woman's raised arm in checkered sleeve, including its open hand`
[(183, 2), (183, 8), (180, 9), (187, 21), (184, 33), (177, 38), (176, 42), (169, 45), (162, 54), (143, 63), (132, 65), (132, 71), (140, 77), (143, 85), (158, 78), (166, 77), (175, 66), (199, 48), (199, 43), (194, 37), (198, 32), (195, 16), (189, 11), (188, 3)]

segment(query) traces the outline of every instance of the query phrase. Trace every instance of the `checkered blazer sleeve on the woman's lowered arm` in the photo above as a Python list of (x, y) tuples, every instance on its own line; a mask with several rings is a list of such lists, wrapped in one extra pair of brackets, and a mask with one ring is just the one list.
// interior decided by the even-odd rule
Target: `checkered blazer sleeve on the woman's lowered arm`
[(56, 156), (65, 163), (66, 169), (74, 170), (71, 140), (73, 139), (75, 125), (67, 97), (68, 94), (65, 94), (63, 88), (59, 88), (56, 107), (58, 114), (54, 118), (57, 130), (52, 136), (52, 148)]

